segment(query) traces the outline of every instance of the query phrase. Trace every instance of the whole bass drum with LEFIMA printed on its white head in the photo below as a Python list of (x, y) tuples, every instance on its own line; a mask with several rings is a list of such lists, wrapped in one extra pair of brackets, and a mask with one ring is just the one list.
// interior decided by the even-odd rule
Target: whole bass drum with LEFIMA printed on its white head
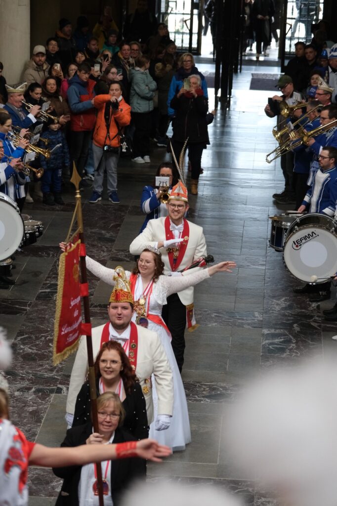
[(336, 222), (325, 215), (308, 214), (288, 228), (283, 251), (288, 271), (297, 279), (324, 283), (337, 272)]

